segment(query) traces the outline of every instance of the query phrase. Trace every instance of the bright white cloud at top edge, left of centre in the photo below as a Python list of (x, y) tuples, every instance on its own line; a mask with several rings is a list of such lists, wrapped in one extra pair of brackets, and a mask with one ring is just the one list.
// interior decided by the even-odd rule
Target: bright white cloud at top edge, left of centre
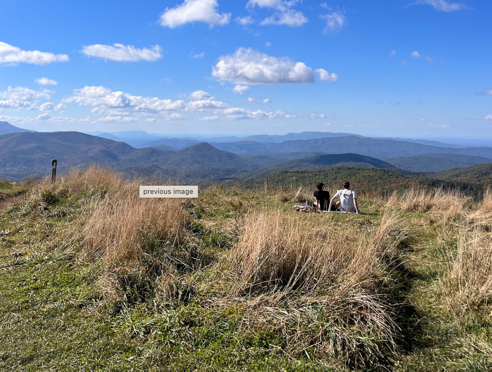
[(181, 5), (166, 8), (159, 17), (159, 24), (171, 29), (189, 22), (204, 22), (211, 28), (227, 25), (231, 13), (219, 14), (217, 7), (217, 0), (184, 0)]

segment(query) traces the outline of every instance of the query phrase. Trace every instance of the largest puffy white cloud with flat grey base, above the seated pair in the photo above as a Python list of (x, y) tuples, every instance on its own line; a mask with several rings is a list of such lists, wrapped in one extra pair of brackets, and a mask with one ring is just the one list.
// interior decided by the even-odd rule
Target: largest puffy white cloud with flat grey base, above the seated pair
[(249, 85), (315, 82), (312, 69), (304, 63), (272, 57), (252, 48), (238, 48), (234, 54), (219, 57), (212, 76)]

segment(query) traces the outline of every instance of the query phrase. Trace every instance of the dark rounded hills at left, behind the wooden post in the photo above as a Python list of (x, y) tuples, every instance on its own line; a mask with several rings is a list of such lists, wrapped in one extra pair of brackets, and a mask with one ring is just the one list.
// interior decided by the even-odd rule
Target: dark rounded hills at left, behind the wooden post
[[(0, 174), (11, 179), (51, 174), (51, 160), (58, 160), (58, 171), (92, 163), (115, 168), (156, 164), (164, 169), (202, 169), (215, 176), (258, 166), (241, 157), (201, 143), (181, 151), (155, 148), (136, 149), (124, 142), (79, 132), (13, 133), (0, 136)], [(227, 170), (224, 170), (227, 169)], [(206, 173), (206, 172), (205, 172)]]

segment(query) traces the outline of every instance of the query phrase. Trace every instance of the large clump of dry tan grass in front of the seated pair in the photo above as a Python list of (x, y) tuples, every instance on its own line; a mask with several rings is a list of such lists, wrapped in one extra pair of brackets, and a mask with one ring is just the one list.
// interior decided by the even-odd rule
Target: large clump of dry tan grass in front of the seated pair
[(366, 280), (378, 259), (406, 237), (399, 226), (392, 214), (375, 231), (348, 224), (320, 231), (298, 215), (252, 212), (229, 256), (231, 274), (238, 276), (235, 290), (277, 286), (315, 292), (337, 280), (342, 285)]

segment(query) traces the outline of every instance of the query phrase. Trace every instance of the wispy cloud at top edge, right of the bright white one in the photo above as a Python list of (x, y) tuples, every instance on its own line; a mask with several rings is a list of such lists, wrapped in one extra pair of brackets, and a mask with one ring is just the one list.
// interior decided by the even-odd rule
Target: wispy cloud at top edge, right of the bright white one
[(292, 9), (292, 6), (298, 2), (299, 0), (249, 0), (246, 7), (258, 6), (260, 8), (273, 8), (276, 10), (272, 16), (260, 22), (261, 26), (286, 25), (299, 27), (308, 22), (308, 19), (302, 12)]

